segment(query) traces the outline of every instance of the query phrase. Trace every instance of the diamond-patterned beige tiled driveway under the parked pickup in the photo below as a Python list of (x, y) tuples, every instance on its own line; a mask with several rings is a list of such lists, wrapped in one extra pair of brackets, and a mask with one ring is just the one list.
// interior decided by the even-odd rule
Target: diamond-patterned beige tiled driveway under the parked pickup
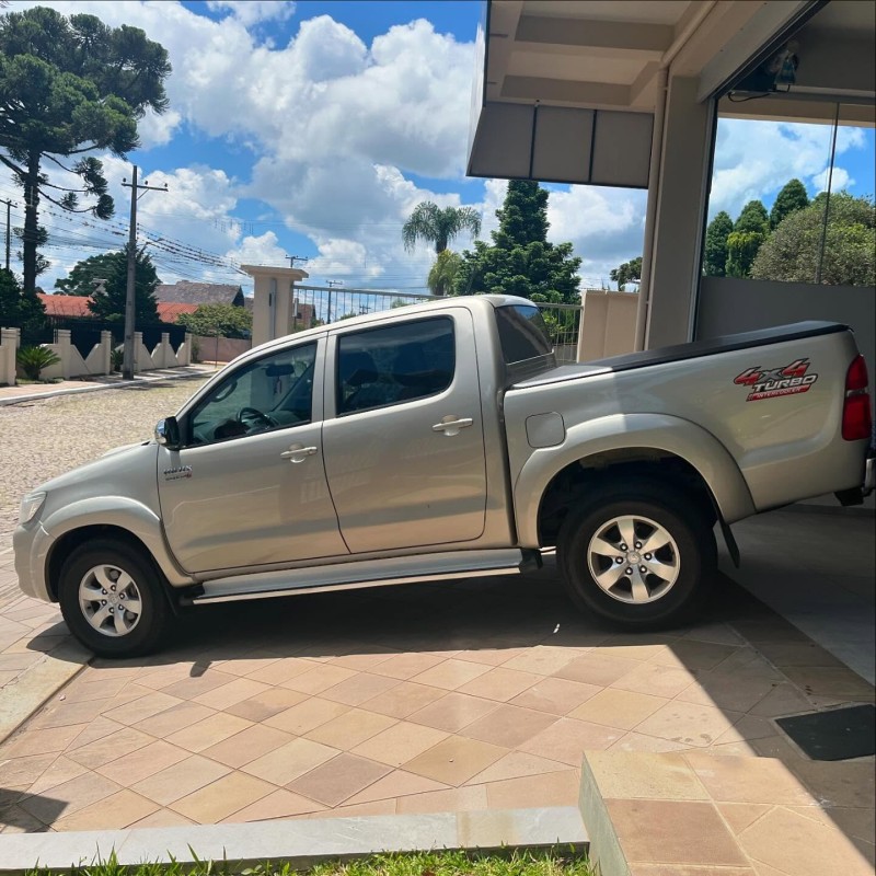
[[(576, 614), (550, 567), (200, 608), (163, 653), (93, 661), (0, 747), (0, 821), (575, 805), (584, 750), (805, 763), (773, 718), (873, 688), (741, 589), (721, 592), (701, 623), (660, 635)], [(51, 623), (34, 606), (4, 613), (0, 665)]]

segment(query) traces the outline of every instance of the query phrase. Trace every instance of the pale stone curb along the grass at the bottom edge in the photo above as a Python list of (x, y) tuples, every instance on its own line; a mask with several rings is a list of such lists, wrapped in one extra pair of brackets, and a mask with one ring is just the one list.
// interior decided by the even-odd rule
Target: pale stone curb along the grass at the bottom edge
[(273, 864), (288, 862), (293, 869), (302, 869), (324, 861), (380, 852), (555, 845), (583, 851), (587, 843), (581, 815), (575, 806), (277, 819), (237, 825), (4, 834), (0, 837), (0, 874), (24, 876), (33, 872), (37, 863), (41, 868), (69, 871), (106, 861), (113, 852), (123, 867), (171, 861), (186, 865), (198, 860), (255, 866), (269, 860)]

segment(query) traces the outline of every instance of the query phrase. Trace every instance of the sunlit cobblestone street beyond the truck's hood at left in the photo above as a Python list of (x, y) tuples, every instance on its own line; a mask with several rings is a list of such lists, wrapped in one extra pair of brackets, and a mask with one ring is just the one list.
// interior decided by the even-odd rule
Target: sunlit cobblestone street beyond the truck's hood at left
[(61, 395), (0, 407), (0, 551), (9, 548), (21, 497), (37, 484), (145, 440), (203, 379)]

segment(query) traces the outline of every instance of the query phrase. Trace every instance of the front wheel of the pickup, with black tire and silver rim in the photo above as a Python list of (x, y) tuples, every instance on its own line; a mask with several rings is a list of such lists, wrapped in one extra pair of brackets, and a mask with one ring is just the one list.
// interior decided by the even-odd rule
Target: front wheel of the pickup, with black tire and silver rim
[[(112, 587), (118, 590), (112, 592)], [(58, 602), (70, 632), (102, 657), (139, 657), (155, 650), (173, 620), (164, 583), (151, 557), (113, 539), (85, 542), (67, 557), (58, 581)], [(139, 611), (125, 608), (135, 602)]]

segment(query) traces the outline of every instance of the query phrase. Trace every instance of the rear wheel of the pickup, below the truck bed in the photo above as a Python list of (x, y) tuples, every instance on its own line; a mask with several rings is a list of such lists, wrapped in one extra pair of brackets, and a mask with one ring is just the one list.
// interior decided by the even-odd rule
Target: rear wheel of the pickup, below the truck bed
[[(626, 545), (619, 521), (627, 535), (632, 521), (634, 544)], [(669, 542), (658, 551), (635, 548), (647, 548), (649, 540), (657, 544), (664, 535)], [(569, 511), (557, 539), (557, 565), (576, 607), (634, 630), (687, 620), (707, 596), (716, 564), (715, 535), (700, 506), (659, 482), (601, 488)]]

